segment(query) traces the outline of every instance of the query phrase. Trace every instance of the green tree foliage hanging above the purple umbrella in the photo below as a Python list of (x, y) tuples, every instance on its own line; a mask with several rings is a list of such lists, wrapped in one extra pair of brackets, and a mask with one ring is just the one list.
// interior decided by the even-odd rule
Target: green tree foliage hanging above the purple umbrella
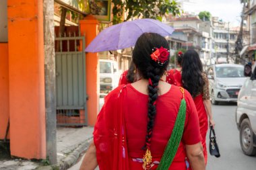
[(180, 15), (181, 8), (177, 1), (172, 0), (112, 0), (113, 24), (123, 22), (123, 13), (128, 12), (126, 20), (131, 17), (143, 17), (162, 20), (168, 13)]

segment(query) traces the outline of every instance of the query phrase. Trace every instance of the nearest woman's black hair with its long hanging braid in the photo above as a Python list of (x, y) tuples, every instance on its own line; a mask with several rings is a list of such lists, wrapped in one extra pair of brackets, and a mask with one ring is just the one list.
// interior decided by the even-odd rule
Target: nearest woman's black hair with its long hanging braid
[(168, 48), (166, 39), (155, 33), (142, 34), (133, 49), (133, 63), (139, 74), (143, 79), (148, 79), (148, 125), (146, 134), (146, 144), (143, 149), (150, 148), (152, 132), (154, 128), (154, 119), (156, 117), (156, 100), (158, 98), (158, 83), (160, 77), (164, 75), (166, 67), (169, 62), (166, 60), (164, 65), (159, 65), (156, 61), (152, 60), (150, 54), (156, 48)]

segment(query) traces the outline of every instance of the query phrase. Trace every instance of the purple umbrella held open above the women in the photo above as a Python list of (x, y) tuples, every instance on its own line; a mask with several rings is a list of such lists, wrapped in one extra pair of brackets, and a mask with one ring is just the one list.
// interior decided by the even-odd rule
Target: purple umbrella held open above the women
[(137, 38), (144, 32), (170, 36), (174, 28), (156, 19), (135, 19), (106, 28), (87, 46), (86, 52), (119, 50), (135, 46)]

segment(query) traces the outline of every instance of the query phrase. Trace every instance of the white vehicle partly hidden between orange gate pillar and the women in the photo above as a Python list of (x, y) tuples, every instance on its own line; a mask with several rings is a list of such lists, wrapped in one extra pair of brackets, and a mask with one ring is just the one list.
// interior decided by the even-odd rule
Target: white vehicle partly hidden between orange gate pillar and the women
[(100, 59), (100, 92), (108, 93), (115, 89), (119, 83), (117, 61)]

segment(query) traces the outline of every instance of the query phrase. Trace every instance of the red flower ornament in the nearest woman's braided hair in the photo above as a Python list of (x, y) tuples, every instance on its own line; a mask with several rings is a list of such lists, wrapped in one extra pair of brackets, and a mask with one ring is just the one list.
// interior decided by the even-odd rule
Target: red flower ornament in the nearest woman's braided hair
[(156, 61), (160, 66), (164, 65), (164, 63), (168, 60), (170, 54), (169, 50), (161, 46), (160, 48), (152, 49), (152, 51), (154, 51), (152, 54), (150, 54), (152, 60)]

